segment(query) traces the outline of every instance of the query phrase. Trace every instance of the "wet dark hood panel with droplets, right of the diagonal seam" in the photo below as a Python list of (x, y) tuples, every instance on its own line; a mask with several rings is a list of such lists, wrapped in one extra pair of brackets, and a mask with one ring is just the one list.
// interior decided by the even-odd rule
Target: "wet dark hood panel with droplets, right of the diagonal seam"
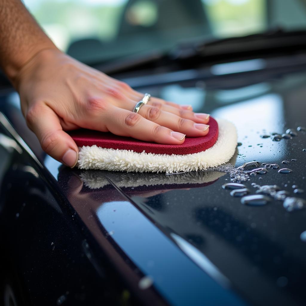
[[(218, 96), (218, 91), (207, 94)], [(289, 111), (284, 110), (297, 95), (300, 95), (297, 107), (302, 107), (303, 94), (304, 88), (300, 88), (300, 92), (289, 90), (284, 99), (281, 93), (272, 92), (253, 101), (241, 102), (243, 111), (233, 103), (212, 112), (216, 117), (232, 120), (238, 129), (241, 145), (230, 161), (231, 175), (219, 173), (217, 178), (217, 172), (205, 177), (203, 173), (166, 176), (83, 171), (79, 175), (87, 186), (83, 190), (90, 195), (94, 192), (92, 184), (98, 187), (101, 177), (108, 177), (165, 235), (170, 237), (171, 233), (176, 233), (205, 255), (229, 279), (234, 291), (247, 296), (251, 304), (275, 303), (275, 299), (280, 304), (300, 304), (305, 298), (306, 245), (300, 234), (305, 230), (306, 211), (301, 205), (302, 200), (295, 199), (305, 199), (305, 194), (294, 193), (291, 186), (296, 184), (305, 188), (306, 157), (302, 149), (306, 133), (297, 131), (304, 122), (304, 115), (299, 117), (292, 106)], [(259, 126), (256, 116), (246, 114), (257, 112), (262, 105), (271, 106), (277, 115), (271, 117), (266, 112)], [(290, 137), (282, 137), (280, 141), (273, 141), (271, 137), (260, 138), (261, 134), (274, 131), (282, 135), (293, 126), (297, 136), (287, 131), (291, 132)], [(279, 173), (283, 169), (279, 165), (286, 162), (292, 172)], [(244, 164), (247, 167), (239, 169)], [(223, 168), (225, 172), (226, 169)], [(237, 185), (226, 185), (237, 182), (238, 176), (242, 181), (238, 180)], [(171, 177), (171, 181), (166, 181), (165, 177)], [(243, 185), (239, 185), (241, 183)], [(279, 188), (267, 192), (265, 186), (274, 185)], [(100, 199), (107, 194), (103, 186), (94, 192)], [(247, 197), (254, 195), (263, 201), (247, 198), (242, 205), (240, 197), (230, 196), (231, 188), (235, 191), (234, 188), (244, 187), (250, 190)], [(271, 192), (275, 193), (272, 195)], [(114, 196), (114, 191), (112, 194)], [(286, 198), (289, 200), (284, 202)], [(255, 284), (256, 290), (250, 283)], [(260, 296), (259, 291), (267, 294)]]

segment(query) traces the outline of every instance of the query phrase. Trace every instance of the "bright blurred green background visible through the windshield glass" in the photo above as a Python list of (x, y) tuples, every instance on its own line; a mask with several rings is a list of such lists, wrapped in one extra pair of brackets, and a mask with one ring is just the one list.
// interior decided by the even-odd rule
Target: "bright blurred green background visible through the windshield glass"
[[(143, 6), (146, 3), (150, 5), (150, 1), (139, 1), (143, 2)], [(103, 0), (89, 2), (36, 0), (29, 9), (58, 47), (66, 50), (69, 43), (76, 39), (95, 37), (107, 41), (116, 37), (121, 18), (125, 18), (123, 11), (128, 0), (113, 5), (109, 1), (103, 3)], [(214, 36), (244, 35), (265, 28), (265, 0), (202, 2)]]

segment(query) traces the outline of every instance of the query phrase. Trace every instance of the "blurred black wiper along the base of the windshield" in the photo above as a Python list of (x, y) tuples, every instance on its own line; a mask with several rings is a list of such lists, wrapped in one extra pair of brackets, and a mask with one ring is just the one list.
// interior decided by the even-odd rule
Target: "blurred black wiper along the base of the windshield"
[(155, 50), (95, 67), (109, 74), (169, 65), (177, 66), (179, 69), (189, 69), (203, 62), (228, 61), (299, 50), (306, 50), (306, 30), (276, 29), (247, 36), (179, 44), (168, 51)]

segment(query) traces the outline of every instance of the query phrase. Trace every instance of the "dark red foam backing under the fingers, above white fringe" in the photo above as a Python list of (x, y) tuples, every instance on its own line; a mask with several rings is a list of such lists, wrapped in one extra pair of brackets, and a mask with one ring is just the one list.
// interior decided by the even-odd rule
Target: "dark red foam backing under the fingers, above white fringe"
[(117, 136), (110, 132), (97, 132), (86, 129), (79, 129), (69, 132), (73, 140), (79, 147), (93, 146), (119, 149), (133, 150), (134, 152), (155, 154), (193, 154), (205, 151), (212, 147), (218, 139), (218, 123), (214, 118), (210, 118), (209, 132), (203, 137), (186, 137), (183, 144), (156, 144), (154, 142), (146, 142), (131, 137)]

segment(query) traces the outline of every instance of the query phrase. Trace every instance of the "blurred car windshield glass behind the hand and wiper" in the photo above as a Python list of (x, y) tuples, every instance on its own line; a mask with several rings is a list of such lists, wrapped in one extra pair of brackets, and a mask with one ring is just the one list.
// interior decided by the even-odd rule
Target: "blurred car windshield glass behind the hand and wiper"
[(180, 43), (306, 28), (305, 0), (24, 0), (54, 43), (85, 63)]

